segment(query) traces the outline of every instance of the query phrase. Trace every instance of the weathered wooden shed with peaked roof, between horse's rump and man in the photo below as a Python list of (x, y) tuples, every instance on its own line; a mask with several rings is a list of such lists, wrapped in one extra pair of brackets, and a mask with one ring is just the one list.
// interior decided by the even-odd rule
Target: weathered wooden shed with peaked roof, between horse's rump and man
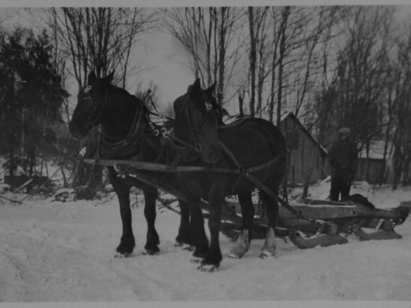
[(327, 150), (292, 112), (282, 116), (279, 129), (284, 133), (288, 149), (288, 183), (295, 185), (324, 179), (328, 169)]

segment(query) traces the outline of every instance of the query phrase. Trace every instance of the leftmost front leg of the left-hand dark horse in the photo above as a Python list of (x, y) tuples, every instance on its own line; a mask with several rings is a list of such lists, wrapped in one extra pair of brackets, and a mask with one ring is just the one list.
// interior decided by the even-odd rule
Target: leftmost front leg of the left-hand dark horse
[(116, 251), (128, 257), (134, 249), (135, 241), (132, 229), (132, 210), (130, 209), (129, 185), (121, 183), (122, 179), (116, 177), (113, 168), (109, 168), (110, 182), (119, 198), (121, 222), (123, 223), (123, 235)]

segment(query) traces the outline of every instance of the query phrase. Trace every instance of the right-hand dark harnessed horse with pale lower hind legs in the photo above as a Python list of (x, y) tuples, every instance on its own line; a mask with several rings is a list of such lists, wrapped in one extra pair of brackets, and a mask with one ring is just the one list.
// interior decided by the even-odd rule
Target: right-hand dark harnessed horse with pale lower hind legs
[[(201, 270), (212, 271), (222, 259), (219, 246), (221, 207), (226, 195), (237, 194), (242, 209), (243, 230), (232, 250), (241, 257), (249, 248), (254, 208), (251, 191), (256, 183), (269, 188), (275, 195), (286, 174), (286, 144), (284, 136), (273, 124), (260, 118), (239, 120), (232, 125), (221, 126), (210, 112), (210, 89), (202, 90), (200, 81), (188, 88), (188, 92), (174, 102), (175, 136), (187, 144), (201, 147), (201, 157), (210, 172), (179, 174), (180, 188), (186, 195), (201, 196), (210, 205), (210, 248), (201, 261)], [(260, 166), (260, 168), (253, 168)], [(213, 172), (216, 168), (242, 170), (240, 174)], [(250, 180), (250, 176), (253, 181)], [(269, 217), (269, 229), (262, 247), (262, 257), (274, 255), (274, 228), (278, 219), (278, 204), (266, 191), (260, 191)], [(190, 201), (195, 209), (195, 198)]]

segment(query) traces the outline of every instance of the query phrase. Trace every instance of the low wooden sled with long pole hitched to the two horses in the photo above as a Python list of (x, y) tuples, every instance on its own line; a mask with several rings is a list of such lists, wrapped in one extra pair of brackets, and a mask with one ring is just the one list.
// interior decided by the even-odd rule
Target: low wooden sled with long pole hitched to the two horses
[[(206, 169), (201, 166), (177, 166), (170, 167), (162, 164), (153, 164), (137, 161), (84, 159), (88, 164), (113, 166), (124, 175), (130, 175), (136, 179), (153, 185), (164, 192), (173, 194), (177, 198), (185, 199), (182, 192), (160, 181), (142, 175), (139, 170), (156, 170), (164, 172), (198, 172)], [(209, 172), (237, 172), (238, 170), (218, 168)], [(278, 199), (278, 197), (276, 197)], [(345, 244), (347, 238), (343, 235), (355, 234), (360, 240), (386, 240), (398, 239), (401, 235), (395, 233), (394, 227), (403, 223), (408, 217), (408, 207), (395, 209), (370, 209), (358, 202), (345, 201), (321, 201), (306, 199), (299, 203), (286, 203), (277, 200), (279, 207), (279, 223), (276, 235), (287, 238), (299, 248), (313, 248), (315, 246), (330, 246)], [(208, 218), (208, 203), (202, 203), (204, 216)], [(223, 206), (221, 215), (221, 231), (230, 238), (236, 239), (240, 233), (242, 220), (240, 217), (240, 205), (228, 201)], [(264, 238), (268, 220), (255, 218), (253, 238)], [(373, 232), (366, 233), (362, 228), (371, 228)]]

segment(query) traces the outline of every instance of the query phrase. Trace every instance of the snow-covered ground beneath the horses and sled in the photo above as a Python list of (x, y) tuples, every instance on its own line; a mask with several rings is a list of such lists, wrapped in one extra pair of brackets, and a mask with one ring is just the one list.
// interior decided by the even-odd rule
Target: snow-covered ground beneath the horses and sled
[[(314, 186), (311, 198), (326, 198), (328, 189), (326, 181)], [(384, 208), (411, 199), (410, 188), (359, 183), (352, 192)], [(0, 302), (411, 300), (410, 218), (396, 228), (402, 240), (349, 235), (348, 244), (301, 250), (277, 239), (270, 259), (258, 257), (262, 240), (253, 240), (243, 259), (229, 259), (232, 242), (221, 235), (221, 267), (204, 273), (174, 246), (178, 214), (158, 208), (161, 251), (148, 256), (141, 203), (132, 213), (136, 248), (121, 259), (114, 258), (121, 236), (116, 197), (64, 203), (37, 196), (21, 205), (0, 198)]]

